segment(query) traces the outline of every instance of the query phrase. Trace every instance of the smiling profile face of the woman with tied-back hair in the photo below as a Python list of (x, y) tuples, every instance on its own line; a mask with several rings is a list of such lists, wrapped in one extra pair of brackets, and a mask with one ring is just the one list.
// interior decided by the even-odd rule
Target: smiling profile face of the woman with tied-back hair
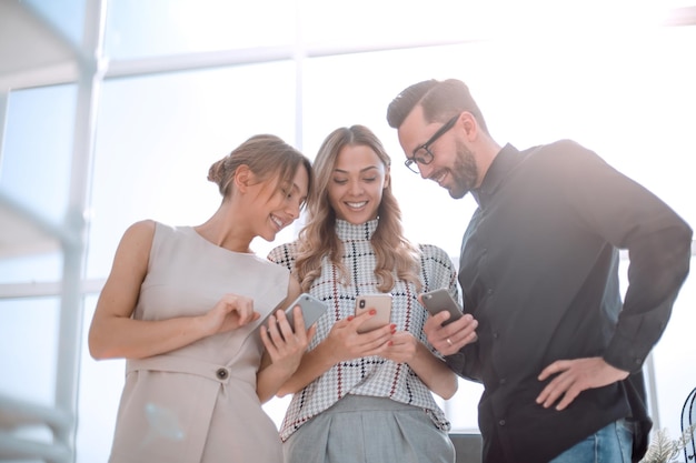
[(266, 241), (274, 241), (280, 230), (299, 218), (307, 200), (309, 175), (305, 167), (299, 167), (291, 183), (277, 182), (276, 178), (249, 187), (257, 190), (250, 204), (255, 234)]

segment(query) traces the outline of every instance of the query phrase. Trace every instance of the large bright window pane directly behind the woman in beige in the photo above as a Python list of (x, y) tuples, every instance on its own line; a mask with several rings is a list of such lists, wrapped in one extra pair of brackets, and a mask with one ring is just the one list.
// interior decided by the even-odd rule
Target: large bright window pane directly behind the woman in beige
[(206, 180), (208, 169), (257, 133), (274, 133), (295, 144), (294, 63), (106, 82), (97, 131), (89, 278), (109, 273), (119, 239), (138, 220), (175, 225), (207, 220), (220, 203), (216, 185)]

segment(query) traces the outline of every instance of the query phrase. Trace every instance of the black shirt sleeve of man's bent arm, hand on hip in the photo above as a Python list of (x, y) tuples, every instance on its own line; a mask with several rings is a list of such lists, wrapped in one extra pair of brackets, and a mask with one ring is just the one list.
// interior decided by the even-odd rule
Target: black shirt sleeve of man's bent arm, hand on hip
[[(689, 271), (693, 232), (657, 195), (573, 142), (558, 158), (566, 201), (585, 225), (617, 249), (628, 250), (628, 288), (604, 359), (640, 370), (662, 336)], [(578, 174), (581, 173), (581, 174)]]

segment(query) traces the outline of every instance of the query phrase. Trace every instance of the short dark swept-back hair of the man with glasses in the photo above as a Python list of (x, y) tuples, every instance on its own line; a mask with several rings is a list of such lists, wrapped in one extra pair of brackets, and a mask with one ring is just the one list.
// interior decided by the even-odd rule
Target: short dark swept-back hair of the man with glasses
[(406, 88), (389, 103), (387, 122), (389, 127), (398, 129), (416, 105), (422, 107), (426, 122), (445, 122), (447, 119), (461, 113), (470, 112), (481, 129), (488, 133), (484, 114), (474, 101), (469, 88), (460, 80), (435, 79), (424, 80)]

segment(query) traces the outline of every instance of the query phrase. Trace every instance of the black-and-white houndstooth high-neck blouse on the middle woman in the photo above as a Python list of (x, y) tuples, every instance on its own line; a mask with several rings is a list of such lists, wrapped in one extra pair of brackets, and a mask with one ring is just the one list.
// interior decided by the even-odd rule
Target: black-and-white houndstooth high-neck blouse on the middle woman
[[(317, 332), (309, 350), (326, 339), (336, 321), (355, 313), (356, 296), (379, 292), (375, 276), (375, 252), (370, 244), (377, 223), (377, 219), (360, 225), (344, 220), (336, 221), (336, 232), (344, 243), (342, 259), (350, 274), (350, 282), (341, 284), (338, 269), (328, 258), (324, 258), (321, 275), (312, 282), (309, 292), (324, 301), (329, 310), (318, 320)], [(444, 250), (434, 245), (421, 244), (419, 248), (421, 292), (447, 288), (457, 300), (457, 276), (450, 258)], [(287, 243), (275, 248), (268, 259), (294, 270), (295, 253), (296, 243)], [(422, 332), (427, 312), (416, 299), (415, 285), (397, 280), (391, 289), (391, 323), (395, 323), (399, 331), (409, 331), (435, 352)], [(294, 394), (280, 429), (282, 441), (285, 442), (304, 423), (334, 405), (346, 394), (389, 397), (419, 406), (428, 413), (438, 429), (444, 431), (450, 429), (430, 390), (406, 363), (368, 356), (334, 365)]]

